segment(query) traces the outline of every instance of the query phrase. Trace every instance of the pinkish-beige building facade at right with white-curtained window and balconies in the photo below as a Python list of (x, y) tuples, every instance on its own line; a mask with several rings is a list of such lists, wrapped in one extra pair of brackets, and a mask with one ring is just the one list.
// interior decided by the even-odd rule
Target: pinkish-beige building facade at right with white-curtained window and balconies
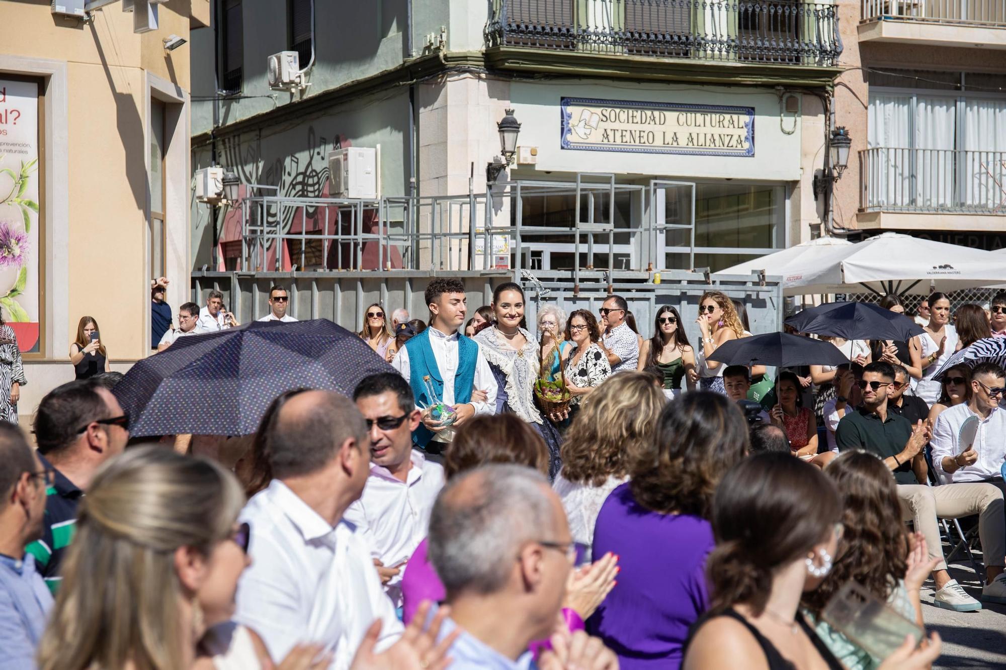
[(862, 0), (842, 21), (836, 229), (1006, 246), (1006, 3)]

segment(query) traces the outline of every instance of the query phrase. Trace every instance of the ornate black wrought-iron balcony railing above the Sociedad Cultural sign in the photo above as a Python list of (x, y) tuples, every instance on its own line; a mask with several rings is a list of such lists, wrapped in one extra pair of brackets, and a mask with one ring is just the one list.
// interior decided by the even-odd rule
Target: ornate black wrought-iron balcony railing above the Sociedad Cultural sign
[(489, 0), (489, 46), (830, 66), (838, 5), (803, 0)]

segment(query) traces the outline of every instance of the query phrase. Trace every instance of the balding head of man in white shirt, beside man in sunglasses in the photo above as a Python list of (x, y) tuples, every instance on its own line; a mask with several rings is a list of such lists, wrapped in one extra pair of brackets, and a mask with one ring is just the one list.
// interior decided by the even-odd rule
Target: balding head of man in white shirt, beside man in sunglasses
[(291, 397), (270, 427), (269, 464), (279, 479), (322, 470), (347, 440), (367, 442), (356, 404), (335, 391), (309, 390)]

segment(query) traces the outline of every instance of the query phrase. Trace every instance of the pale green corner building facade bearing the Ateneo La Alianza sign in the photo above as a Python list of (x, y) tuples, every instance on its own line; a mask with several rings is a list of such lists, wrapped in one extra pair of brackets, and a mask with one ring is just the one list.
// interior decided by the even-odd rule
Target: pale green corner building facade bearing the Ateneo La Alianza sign
[[(415, 235), (440, 232), (454, 235), (447, 257), (489, 243), (494, 258), (434, 270), (652, 279), (714, 272), (823, 232), (812, 182), (850, 32), (835, 3), (336, 4), (221, 0), (212, 27), (193, 32), (193, 58), (214, 63), (193, 70), (193, 169), (233, 170), (255, 200), (194, 206), (196, 269), (426, 268), (437, 250)], [(269, 86), (269, 56), (281, 51), (298, 53), (303, 86)], [(487, 165), (507, 110), (517, 150), (494, 180)], [(334, 195), (328, 154), (346, 147), (379, 147), (375, 200), (408, 204), (374, 205), (354, 223), (345, 205), (285, 200)], [(524, 243), (465, 239), (472, 219), (482, 229), (483, 207), (494, 227), (519, 223)], [(363, 249), (348, 262), (351, 245), (317, 238), (356, 229)], [(366, 234), (396, 230), (413, 235), (411, 247), (368, 256)]]

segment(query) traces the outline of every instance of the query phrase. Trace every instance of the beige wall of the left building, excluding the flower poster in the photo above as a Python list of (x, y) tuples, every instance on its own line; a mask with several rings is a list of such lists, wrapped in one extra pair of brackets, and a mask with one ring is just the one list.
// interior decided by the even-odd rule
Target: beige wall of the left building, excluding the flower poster
[[(200, 16), (189, 16), (193, 6)], [(48, 3), (0, 3), (0, 75), (45, 80), (43, 345), (25, 355), (22, 423), (45, 392), (72, 379), (68, 349), (82, 315), (98, 320), (113, 369), (149, 354), (152, 98), (167, 113), (167, 299), (175, 313), (188, 300), (189, 49), (167, 51), (163, 39), (188, 39), (190, 24), (208, 22), (208, 7), (160, 5), (158, 29), (134, 33), (121, 3), (87, 23), (52, 14)]]

